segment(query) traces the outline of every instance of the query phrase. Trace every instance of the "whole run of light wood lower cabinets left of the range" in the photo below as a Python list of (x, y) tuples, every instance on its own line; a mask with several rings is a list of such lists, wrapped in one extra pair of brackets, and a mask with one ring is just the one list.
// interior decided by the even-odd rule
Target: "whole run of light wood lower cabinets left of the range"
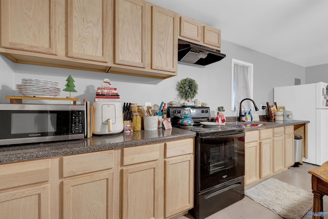
[(0, 165), (1, 218), (176, 218), (193, 207), (194, 138)]

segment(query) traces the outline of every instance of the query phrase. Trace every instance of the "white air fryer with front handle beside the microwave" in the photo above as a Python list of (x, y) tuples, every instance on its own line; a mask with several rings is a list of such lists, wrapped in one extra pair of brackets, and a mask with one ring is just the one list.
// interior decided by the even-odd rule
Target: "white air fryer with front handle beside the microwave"
[(115, 134), (123, 131), (120, 102), (93, 102), (93, 134)]

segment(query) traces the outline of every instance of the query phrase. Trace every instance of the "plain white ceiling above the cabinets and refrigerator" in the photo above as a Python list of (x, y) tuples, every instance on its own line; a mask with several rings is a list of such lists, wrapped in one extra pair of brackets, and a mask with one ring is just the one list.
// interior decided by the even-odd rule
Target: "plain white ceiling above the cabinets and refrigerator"
[(147, 2), (218, 28), (225, 41), (283, 61), (303, 67), (328, 64), (328, 0)]

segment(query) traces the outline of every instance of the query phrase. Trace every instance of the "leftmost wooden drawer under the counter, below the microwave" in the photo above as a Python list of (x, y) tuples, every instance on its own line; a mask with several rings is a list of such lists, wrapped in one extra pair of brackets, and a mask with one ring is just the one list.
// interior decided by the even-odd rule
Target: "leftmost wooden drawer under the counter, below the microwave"
[(27, 161), (0, 166), (0, 189), (49, 181), (50, 160)]

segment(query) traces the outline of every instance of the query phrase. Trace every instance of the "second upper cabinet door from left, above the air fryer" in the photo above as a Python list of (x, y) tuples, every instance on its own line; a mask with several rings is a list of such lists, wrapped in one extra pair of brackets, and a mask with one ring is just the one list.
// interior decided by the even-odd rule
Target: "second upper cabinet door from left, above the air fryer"
[(107, 63), (110, 15), (106, 0), (68, 1), (68, 56)]

